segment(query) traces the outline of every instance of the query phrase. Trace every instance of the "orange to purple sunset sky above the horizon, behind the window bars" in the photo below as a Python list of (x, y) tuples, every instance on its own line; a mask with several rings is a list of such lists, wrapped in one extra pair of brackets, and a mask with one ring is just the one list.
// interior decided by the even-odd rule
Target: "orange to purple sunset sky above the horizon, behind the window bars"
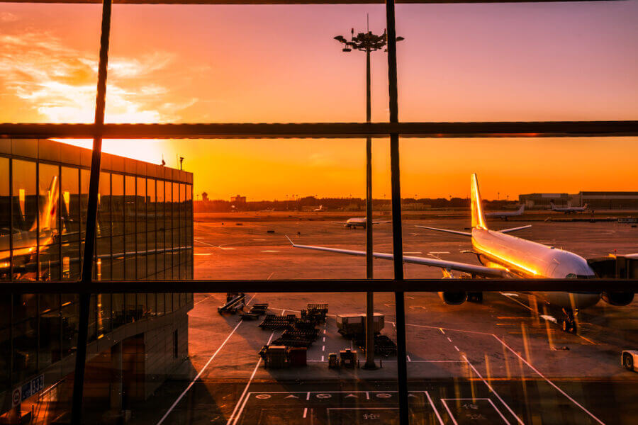
[[(0, 122), (89, 123), (99, 5), (0, 4)], [(106, 121), (362, 121), (365, 57), (335, 35), (384, 28), (383, 5), (113, 6)], [(399, 5), (403, 121), (638, 119), (638, 0)], [(387, 60), (373, 55), (372, 119), (388, 119)], [(374, 196), (389, 198), (388, 142)], [(249, 200), (362, 196), (359, 140), (105, 141), (167, 165), (195, 191)], [(486, 198), (638, 190), (636, 138), (403, 140), (403, 196)]]

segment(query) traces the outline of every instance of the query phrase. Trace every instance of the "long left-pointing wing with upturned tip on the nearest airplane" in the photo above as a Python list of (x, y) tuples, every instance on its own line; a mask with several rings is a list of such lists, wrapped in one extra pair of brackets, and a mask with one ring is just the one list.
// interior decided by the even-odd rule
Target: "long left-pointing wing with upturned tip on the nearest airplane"
[[(334, 252), (335, 254), (346, 254), (354, 256), (366, 256), (366, 251), (354, 251), (352, 249), (337, 249), (328, 248), (327, 246), (313, 246), (313, 245), (298, 245), (292, 242), (292, 240), (286, 236), (294, 248), (313, 249), (315, 251)], [(376, 259), (391, 260), (394, 258), (392, 254), (384, 254), (381, 252), (374, 252), (372, 254)], [(423, 266), (439, 267), (444, 270), (456, 270), (464, 273), (471, 273), (476, 276), (483, 276), (486, 278), (504, 278), (508, 277), (507, 273), (500, 268), (489, 268), (485, 266), (475, 266), (469, 263), (459, 263), (457, 261), (447, 261), (440, 259), (426, 259), (417, 256), (403, 256), (404, 263), (422, 264)]]

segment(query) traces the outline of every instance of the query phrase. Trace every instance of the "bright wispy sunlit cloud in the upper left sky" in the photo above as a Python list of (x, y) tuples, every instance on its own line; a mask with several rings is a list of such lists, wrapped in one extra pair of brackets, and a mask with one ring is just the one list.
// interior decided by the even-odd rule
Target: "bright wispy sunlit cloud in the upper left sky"
[[(4, 17), (4, 15), (0, 15)], [(179, 118), (196, 102), (150, 84), (174, 62), (168, 52), (113, 57), (108, 64), (106, 120), (157, 123)], [(54, 123), (94, 120), (97, 57), (65, 45), (48, 32), (0, 35), (0, 86)]]

